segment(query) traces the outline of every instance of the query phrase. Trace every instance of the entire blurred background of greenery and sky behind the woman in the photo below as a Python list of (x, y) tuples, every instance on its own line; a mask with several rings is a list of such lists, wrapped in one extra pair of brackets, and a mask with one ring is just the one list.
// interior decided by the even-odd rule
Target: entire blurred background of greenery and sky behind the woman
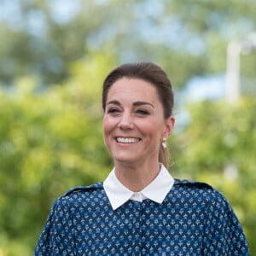
[(0, 256), (32, 255), (49, 207), (104, 179), (102, 80), (154, 61), (172, 80), (170, 172), (211, 183), (256, 255), (256, 2), (0, 0)]

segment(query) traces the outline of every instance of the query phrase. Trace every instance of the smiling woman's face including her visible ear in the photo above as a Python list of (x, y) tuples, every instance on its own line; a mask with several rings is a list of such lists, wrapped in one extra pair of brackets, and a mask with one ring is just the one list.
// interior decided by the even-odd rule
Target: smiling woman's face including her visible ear
[(103, 131), (115, 164), (158, 161), (160, 142), (170, 136), (173, 123), (173, 117), (164, 118), (152, 84), (123, 78), (108, 90)]

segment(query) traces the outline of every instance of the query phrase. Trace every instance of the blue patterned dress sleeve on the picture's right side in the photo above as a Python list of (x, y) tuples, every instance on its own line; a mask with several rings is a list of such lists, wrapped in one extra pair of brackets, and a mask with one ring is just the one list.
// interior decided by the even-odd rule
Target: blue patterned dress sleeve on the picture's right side
[(249, 255), (247, 240), (235, 212), (216, 190), (206, 208), (205, 221), (203, 255)]

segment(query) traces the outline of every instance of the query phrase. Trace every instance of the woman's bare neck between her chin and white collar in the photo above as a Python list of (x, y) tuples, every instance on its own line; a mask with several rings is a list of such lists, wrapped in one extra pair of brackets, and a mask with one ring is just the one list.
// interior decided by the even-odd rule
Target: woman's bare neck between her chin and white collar
[(160, 164), (155, 162), (148, 165), (124, 165), (115, 163), (115, 175), (127, 189), (138, 192), (151, 183), (160, 172)]

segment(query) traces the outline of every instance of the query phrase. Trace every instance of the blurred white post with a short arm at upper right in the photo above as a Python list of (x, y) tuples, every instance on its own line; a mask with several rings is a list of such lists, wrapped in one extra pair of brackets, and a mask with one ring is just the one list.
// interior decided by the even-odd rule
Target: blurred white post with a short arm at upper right
[(240, 88), (240, 55), (249, 54), (256, 49), (256, 32), (250, 33), (241, 42), (231, 41), (227, 48), (226, 98), (236, 103), (241, 94)]

